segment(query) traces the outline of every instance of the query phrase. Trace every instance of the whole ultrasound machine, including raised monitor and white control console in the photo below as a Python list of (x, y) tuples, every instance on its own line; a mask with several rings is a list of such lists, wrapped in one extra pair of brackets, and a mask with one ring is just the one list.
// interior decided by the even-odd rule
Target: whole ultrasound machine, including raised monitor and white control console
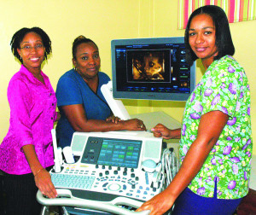
[[(111, 49), (113, 82), (101, 90), (120, 119), (131, 118), (119, 98), (186, 101), (195, 89), (195, 64), (184, 61), (183, 37), (113, 40)], [(48, 206), (61, 206), (64, 214), (149, 214), (135, 210), (177, 173), (172, 149), (150, 131), (74, 132), (63, 150), (56, 146), (55, 130), (52, 137), (50, 175), (58, 197), (38, 191), (43, 214)]]

